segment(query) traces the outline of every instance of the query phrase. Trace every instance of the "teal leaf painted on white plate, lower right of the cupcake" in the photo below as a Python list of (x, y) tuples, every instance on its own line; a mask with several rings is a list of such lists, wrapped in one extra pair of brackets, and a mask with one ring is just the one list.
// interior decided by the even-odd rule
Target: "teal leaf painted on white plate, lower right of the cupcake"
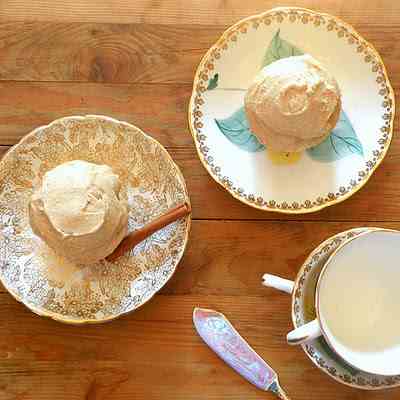
[(342, 110), (339, 121), (331, 134), (318, 146), (307, 149), (307, 154), (315, 161), (332, 162), (352, 154), (362, 157), (364, 149), (349, 117)]

